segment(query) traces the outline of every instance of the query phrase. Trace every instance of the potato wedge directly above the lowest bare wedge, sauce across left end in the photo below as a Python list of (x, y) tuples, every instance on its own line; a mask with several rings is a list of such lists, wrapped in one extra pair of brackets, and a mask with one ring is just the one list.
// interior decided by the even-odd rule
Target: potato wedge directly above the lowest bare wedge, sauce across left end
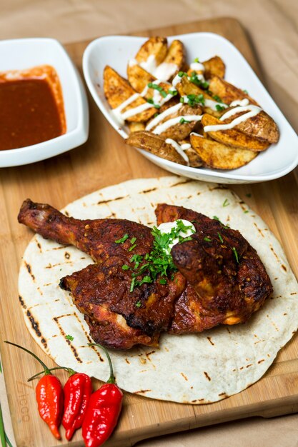
[[(204, 114), (201, 121), (203, 126), (214, 126), (223, 124), (223, 121), (215, 118), (212, 115)], [(252, 136), (244, 134), (237, 129), (227, 129), (225, 131), (209, 131), (207, 132), (212, 139), (219, 141), (219, 143), (227, 144), (239, 149), (249, 149), (249, 151), (264, 151), (269, 147), (268, 141), (260, 141)]]

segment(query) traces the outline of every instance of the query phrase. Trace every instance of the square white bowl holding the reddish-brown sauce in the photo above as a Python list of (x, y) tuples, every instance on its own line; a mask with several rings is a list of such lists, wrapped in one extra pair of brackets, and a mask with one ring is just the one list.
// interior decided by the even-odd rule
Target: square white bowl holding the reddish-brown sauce
[(56, 70), (64, 98), (66, 134), (19, 149), (0, 151), (0, 167), (20, 166), (62, 154), (88, 138), (89, 109), (86, 91), (76, 67), (55, 39), (0, 41), (0, 71), (24, 70), (39, 65)]

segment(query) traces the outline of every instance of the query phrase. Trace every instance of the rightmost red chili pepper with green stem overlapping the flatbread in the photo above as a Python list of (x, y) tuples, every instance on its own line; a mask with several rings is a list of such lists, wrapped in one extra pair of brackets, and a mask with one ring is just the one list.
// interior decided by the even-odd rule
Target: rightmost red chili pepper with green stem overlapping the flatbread
[(109, 361), (109, 380), (95, 391), (89, 400), (82, 426), (82, 435), (86, 447), (99, 447), (113, 432), (121, 411), (123, 393), (116, 386), (111, 358), (104, 346), (89, 343), (89, 346), (99, 346), (104, 350)]

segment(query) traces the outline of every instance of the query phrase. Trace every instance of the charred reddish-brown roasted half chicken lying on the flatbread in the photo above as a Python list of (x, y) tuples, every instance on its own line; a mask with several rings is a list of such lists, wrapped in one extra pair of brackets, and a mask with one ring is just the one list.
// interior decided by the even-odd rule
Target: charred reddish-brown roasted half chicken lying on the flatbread
[[(152, 251), (151, 228), (124, 219), (79, 220), (46, 204), (24, 201), (19, 222), (88, 253), (94, 264), (61, 279), (94, 341), (109, 348), (158, 346), (162, 332), (201, 332), (247, 321), (272, 292), (262, 262), (239, 231), (181, 206), (157, 206), (157, 224), (192, 221), (191, 240), (172, 248), (176, 271), (167, 281), (134, 277), (137, 256)], [(131, 246), (137, 241), (131, 253)], [(123, 268), (125, 266), (125, 268)], [(144, 279), (144, 276), (143, 276)], [(139, 286), (132, 287), (133, 281)]]

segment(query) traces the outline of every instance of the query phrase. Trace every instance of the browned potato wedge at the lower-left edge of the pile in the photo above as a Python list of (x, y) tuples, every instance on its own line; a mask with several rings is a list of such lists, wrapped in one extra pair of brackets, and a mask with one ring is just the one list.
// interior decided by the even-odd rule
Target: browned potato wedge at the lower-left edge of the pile
[(151, 154), (162, 157), (162, 159), (174, 161), (175, 163), (183, 165), (187, 164), (171, 144), (167, 144), (161, 136), (152, 134), (151, 132), (134, 132), (134, 134), (129, 135), (125, 142), (126, 144), (129, 144), (129, 146), (144, 149)]

